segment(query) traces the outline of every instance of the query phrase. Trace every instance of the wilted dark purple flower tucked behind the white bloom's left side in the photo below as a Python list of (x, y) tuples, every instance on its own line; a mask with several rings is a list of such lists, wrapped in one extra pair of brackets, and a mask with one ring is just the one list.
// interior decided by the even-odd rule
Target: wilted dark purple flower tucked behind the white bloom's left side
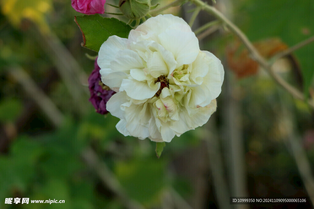
[(116, 92), (111, 90), (108, 86), (101, 82), (101, 75), (99, 73), (100, 67), (97, 64), (97, 59), (95, 60), (95, 69), (90, 74), (88, 78), (89, 83), (89, 91), (90, 91), (90, 98), (89, 102), (91, 102), (96, 112), (104, 115), (108, 113), (106, 109), (106, 104), (110, 97), (114, 95)]

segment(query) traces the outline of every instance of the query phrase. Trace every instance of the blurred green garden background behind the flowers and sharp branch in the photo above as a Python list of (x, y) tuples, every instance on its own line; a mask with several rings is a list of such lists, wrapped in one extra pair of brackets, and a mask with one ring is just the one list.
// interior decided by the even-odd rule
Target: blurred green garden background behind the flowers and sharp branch
[[(312, 0), (216, 1), (265, 57), (314, 34)], [(229, 204), (230, 196), (313, 197), (314, 112), (252, 63), (224, 27), (200, 38), (201, 50), (225, 68), (217, 112), (167, 143), (158, 159), (154, 142), (124, 137), (117, 118), (88, 102), (94, 62), (86, 54), (97, 54), (81, 47), (70, 1), (0, 3), (0, 208), (311, 208), (309, 198)], [(164, 13), (188, 22), (192, 8)], [(193, 29), (211, 20), (201, 12)], [(277, 73), (311, 96), (313, 57), (312, 43), (276, 62)], [(4, 204), (15, 197), (65, 203)]]

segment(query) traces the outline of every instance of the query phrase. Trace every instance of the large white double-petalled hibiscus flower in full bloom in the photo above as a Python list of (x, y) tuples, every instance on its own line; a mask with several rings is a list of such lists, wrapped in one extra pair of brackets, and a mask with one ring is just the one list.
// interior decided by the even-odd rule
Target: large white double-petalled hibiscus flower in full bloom
[(131, 30), (128, 39), (111, 36), (99, 50), (104, 84), (114, 91), (107, 110), (120, 118), (120, 133), (156, 142), (205, 124), (216, 110), (224, 69), (201, 51), (189, 25), (158, 15)]

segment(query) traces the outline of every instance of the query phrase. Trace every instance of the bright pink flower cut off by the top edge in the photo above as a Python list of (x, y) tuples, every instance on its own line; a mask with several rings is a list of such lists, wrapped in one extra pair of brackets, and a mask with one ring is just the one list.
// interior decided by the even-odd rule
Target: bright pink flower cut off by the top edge
[(72, 7), (83, 14), (103, 14), (106, 0), (72, 0)]

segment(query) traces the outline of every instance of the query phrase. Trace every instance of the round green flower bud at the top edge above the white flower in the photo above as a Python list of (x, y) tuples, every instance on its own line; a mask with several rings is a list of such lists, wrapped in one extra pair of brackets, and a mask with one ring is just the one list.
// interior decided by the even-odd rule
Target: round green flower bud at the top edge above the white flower
[(119, 8), (127, 18), (140, 19), (149, 12), (150, 0), (120, 0)]

